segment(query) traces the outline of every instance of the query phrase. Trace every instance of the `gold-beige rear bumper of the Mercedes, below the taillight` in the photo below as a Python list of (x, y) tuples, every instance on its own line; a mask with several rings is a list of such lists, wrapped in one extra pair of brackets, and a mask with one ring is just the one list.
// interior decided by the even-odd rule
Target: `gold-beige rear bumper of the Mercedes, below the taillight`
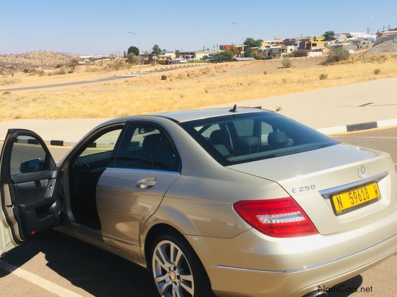
[(303, 296), (397, 253), (397, 211), (341, 234), (291, 239), (251, 229), (232, 239), (187, 236), (219, 296)]

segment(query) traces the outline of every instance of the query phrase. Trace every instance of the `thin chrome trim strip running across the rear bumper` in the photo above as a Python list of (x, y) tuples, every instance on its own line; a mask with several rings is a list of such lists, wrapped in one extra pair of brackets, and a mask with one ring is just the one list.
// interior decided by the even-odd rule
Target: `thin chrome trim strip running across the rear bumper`
[[(332, 262), (335, 262), (335, 261), (338, 261), (338, 260), (347, 258), (347, 257), (349, 257), (349, 256), (352, 256), (352, 255), (355, 255), (355, 254), (357, 254), (357, 253), (359, 253), (359, 252), (362, 252), (362, 251), (364, 251), (364, 250), (366, 250), (366, 249), (369, 249), (369, 248), (371, 248), (371, 247), (375, 247), (375, 246), (377, 246), (377, 245), (380, 245), (380, 244), (382, 244), (382, 243), (384, 243), (384, 242), (386, 242), (386, 241), (392, 239), (392, 238), (395, 237), (395, 236), (397, 236), (397, 233), (394, 234), (394, 235), (392, 235), (392, 236), (390, 236), (390, 237), (388, 237), (388, 238), (386, 238), (386, 239), (384, 239), (384, 240), (382, 240), (382, 241), (380, 241), (380, 242), (378, 242), (378, 243), (376, 243), (376, 244), (373, 244), (373, 245), (370, 245), (370, 246), (367, 246), (367, 247), (360, 248), (360, 249), (358, 249), (358, 250), (356, 250), (356, 251), (353, 251), (353, 252), (351, 252), (351, 253), (345, 254), (345, 255), (343, 255), (343, 256), (335, 257), (335, 258), (330, 259), (330, 260), (328, 260), (328, 261), (324, 261), (324, 262), (320, 262), (320, 263), (316, 263), (316, 264), (313, 264), (313, 265), (308, 265), (308, 266), (304, 266), (304, 267), (300, 267), (300, 268), (295, 268), (295, 269), (289, 269), (289, 270), (261, 270), (261, 269), (241, 268), (241, 267), (224, 266), (224, 265), (217, 265), (216, 268), (235, 269), (235, 270), (251, 271), (251, 272), (266, 272), (266, 273), (293, 273), (293, 272), (298, 272), (298, 271), (302, 271), (302, 270), (307, 270), (307, 269), (319, 267), (319, 266), (322, 266), (322, 265), (326, 265), (326, 264), (329, 264), (329, 263), (332, 263)], [(394, 249), (394, 250), (392, 250), (392, 251), (391, 251), (390, 253), (388, 253), (388, 254), (392, 254), (392, 253), (396, 252), (396, 250), (397, 250), (397, 248)], [(385, 255), (383, 255), (382, 257), (384, 257), (384, 256), (385, 256)], [(381, 259), (382, 257), (380, 257), (380, 258), (378, 258), (378, 259), (376, 259), (376, 260), (379, 260), (379, 259)], [(376, 261), (376, 260), (374, 260), (374, 261)]]

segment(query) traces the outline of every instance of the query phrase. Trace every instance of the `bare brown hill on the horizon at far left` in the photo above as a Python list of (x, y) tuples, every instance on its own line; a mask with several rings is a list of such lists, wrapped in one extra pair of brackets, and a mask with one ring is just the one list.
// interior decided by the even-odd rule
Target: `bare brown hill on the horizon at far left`
[(48, 50), (30, 51), (20, 54), (0, 54), (0, 71), (7, 67), (13, 67), (15, 71), (33, 67), (49, 69), (56, 67), (57, 64), (67, 64), (75, 58), (76, 56)]

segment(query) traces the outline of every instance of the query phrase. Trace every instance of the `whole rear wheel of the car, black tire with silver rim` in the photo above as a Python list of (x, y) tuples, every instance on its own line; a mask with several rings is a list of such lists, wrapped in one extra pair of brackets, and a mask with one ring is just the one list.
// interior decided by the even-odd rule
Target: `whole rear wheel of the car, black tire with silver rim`
[(148, 264), (161, 297), (215, 297), (199, 257), (177, 232), (168, 231), (156, 238)]

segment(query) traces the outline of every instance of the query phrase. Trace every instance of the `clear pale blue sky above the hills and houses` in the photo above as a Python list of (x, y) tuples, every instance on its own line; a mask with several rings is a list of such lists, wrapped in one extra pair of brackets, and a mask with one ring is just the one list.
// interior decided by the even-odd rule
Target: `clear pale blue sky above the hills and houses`
[[(137, 45), (173, 50), (212, 48), (244, 38), (289, 38), (325, 31), (396, 27), (395, 0), (0, 0), (0, 53), (31, 50), (108, 54)], [(175, 3), (177, 3), (175, 5)], [(332, 4), (330, 4), (332, 3)], [(243, 5), (242, 5), (243, 4)], [(394, 23), (393, 23), (394, 22)]]

